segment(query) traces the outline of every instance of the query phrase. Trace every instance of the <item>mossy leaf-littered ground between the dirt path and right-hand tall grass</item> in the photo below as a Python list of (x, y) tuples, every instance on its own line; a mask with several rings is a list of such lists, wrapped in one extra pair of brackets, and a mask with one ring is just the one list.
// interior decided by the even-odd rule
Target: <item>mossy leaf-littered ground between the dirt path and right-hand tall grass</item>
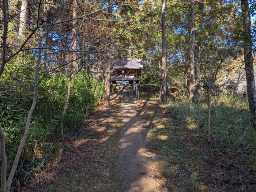
[[(197, 128), (191, 126), (189, 111), (180, 112), (181, 105), (184, 103), (158, 108), (155, 101), (154, 107), (144, 108), (145, 112), (155, 111), (153, 117), (145, 116), (151, 118), (147, 140), (159, 155), (158, 171), (168, 190), (255, 191), (256, 170), (251, 161), (244, 158), (247, 152), (251, 154), (253, 151), (248, 149), (233, 156), (220, 143), (208, 143), (206, 134), (199, 134)], [(180, 113), (178, 117), (177, 113)]]

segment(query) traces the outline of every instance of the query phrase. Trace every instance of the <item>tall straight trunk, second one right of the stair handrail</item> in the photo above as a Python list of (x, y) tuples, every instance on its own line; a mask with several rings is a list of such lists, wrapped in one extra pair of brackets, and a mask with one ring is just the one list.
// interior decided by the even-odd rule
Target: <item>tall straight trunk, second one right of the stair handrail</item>
[(195, 15), (194, 0), (191, 0), (191, 40), (190, 40), (190, 68), (189, 68), (189, 100), (195, 97), (194, 93), (194, 43), (195, 43)]

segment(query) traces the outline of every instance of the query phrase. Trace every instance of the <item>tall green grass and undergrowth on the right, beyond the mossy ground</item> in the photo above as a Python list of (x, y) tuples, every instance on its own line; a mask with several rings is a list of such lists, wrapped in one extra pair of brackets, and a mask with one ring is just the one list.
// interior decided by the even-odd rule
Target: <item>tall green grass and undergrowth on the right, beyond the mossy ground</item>
[[(181, 126), (197, 134), (207, 135), (207, 103), (187, 102), (186, 96), (170, 99), (168, 112), (177, 117)], [(186, 103), (186, 104), (184, 104)], [(253, 154), (256, 132), (250, 122), (248, 102), (242, 95), (220, 94), (211, 105), (211, 138), (227, 154)]]

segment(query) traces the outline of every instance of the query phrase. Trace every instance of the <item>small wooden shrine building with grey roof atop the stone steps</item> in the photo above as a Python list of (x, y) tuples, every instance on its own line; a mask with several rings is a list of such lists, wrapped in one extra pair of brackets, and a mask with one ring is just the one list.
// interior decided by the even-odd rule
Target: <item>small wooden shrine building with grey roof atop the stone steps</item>
[(140, 74), (143, 68), (142, 59), (120, 59), (112, 66), (111, 83), (124, 82), (140, 83)]

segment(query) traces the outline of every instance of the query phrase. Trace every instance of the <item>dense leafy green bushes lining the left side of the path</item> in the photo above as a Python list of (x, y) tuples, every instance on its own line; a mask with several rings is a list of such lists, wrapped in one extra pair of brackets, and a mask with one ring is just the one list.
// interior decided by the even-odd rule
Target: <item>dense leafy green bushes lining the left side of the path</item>
[[(9, 64), (9, 73), (5, 72), (0, 82), (0, 118), (6, 136), (8, 158), (7, 174), (11, 169), (16, 151), (25, 130), (26, 118), (33, 97), (34, 56), (25, 55)], [(99, 98), (105, 95), (104, 83), (99, 81), (94, 92), (95, 78), (87, 74), (78, 74), (72, 80), (72, 93), (64, 118), (65, 133), (74, 131), (74, 125), (84, 116), (88, 108), (95, 108)], [(58, 127), (67, 98), (68, 78), (61, 73), (49, 75), (38, 87), (38, 99), (33, 112), (29, 136), (17, 169), (23, 181), (48, 161), (52, 143), (57, 141)], [(91, 99), (91, 102), (90, 102)], [(90, 103), (90, 106), (89, 106)]]

